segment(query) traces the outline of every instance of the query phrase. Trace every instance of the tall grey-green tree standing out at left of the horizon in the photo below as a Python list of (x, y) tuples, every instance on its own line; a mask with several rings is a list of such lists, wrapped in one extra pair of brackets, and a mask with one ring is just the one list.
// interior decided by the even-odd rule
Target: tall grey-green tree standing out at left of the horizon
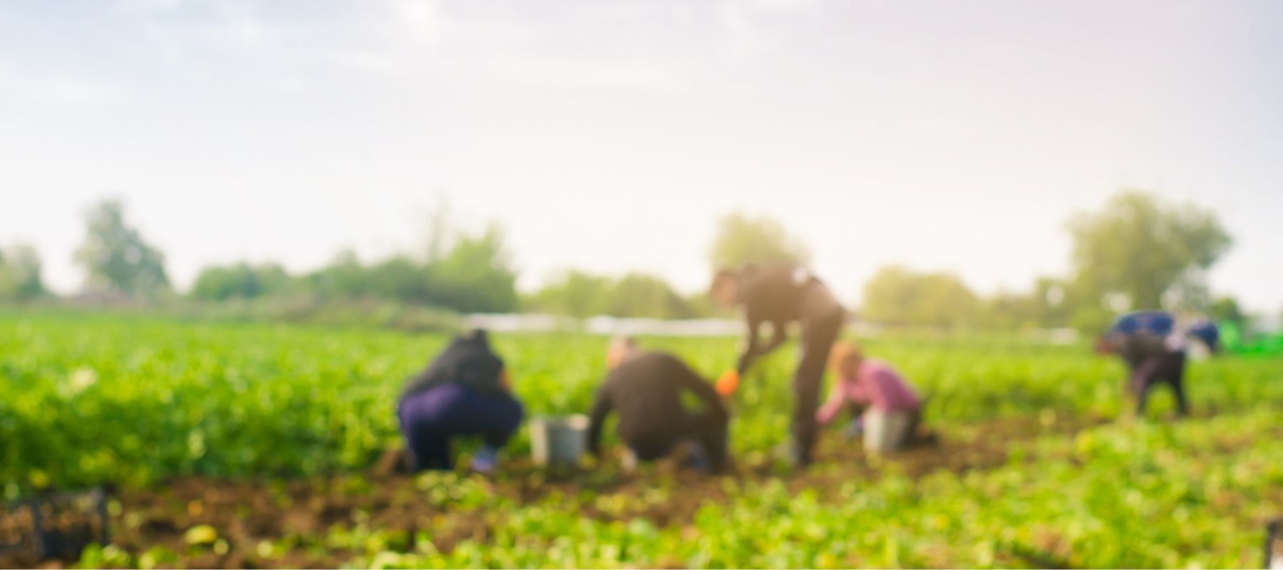
[(85, 222), (85, 243), (76, 250), (76, 261), (85, 266), (91, 286), (135, 298), (169, 290), (164, 255), (126, 222), (124, 204), (104, 200), (90, 208)]

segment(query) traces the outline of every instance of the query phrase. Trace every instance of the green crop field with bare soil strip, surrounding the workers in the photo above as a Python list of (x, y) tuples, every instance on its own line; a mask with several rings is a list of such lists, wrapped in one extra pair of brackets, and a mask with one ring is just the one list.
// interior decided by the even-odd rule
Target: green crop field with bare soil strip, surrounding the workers
[[(119, 485), (85, 566), (1252, 566), (1283, 515), (1283, 358), (1188, 371), (1132, 419), (1123, 366), (1017, 338), (863, 339), (926, 394), (938, 449), (828, 433), (788, 472), (792, 348), (736, 394), (738, 469), (376, 475), (440, 335), (151, 317), (0, 317), (0, 484)], [(644, 339), (708, 377), (734, 339)], [(527, 415), (584, 412), (606, 339), (495, 335)], [(262, 505), (259, 505), (262, 503)], [(264, 510), (277, 510), (264, 517)], [(307, 516), (304, 516), (307, 515)], [(264, 520), (276, 522), (268, 524)], [(295, 524), (295, 521), (299, 521)]]

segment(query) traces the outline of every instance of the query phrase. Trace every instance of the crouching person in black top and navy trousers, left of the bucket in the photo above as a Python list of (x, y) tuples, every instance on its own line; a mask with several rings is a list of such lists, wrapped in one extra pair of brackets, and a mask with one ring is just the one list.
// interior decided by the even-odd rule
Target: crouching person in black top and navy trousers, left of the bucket
[(480, 435), (484, 447), (472, 469), (494, 470), (502, 448), (521, 425), (508, 371), (484, 330), (458, 336), (427, 370), (412, 377), (396, 406), (400, 431), (414, 470), (452, 469), (450, 439)]

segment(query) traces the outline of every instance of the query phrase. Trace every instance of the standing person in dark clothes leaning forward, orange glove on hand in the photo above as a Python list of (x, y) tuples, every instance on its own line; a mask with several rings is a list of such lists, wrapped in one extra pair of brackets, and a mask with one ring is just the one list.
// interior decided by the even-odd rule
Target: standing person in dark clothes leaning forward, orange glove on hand
[[(802, 467), (811, 462), (815, 445), (815, 411), (820, 403), (820, 385), (829, 359), (829, 349), (842, 331), (847, 312), (833, 293), (807, 270), (793, 264), (720, 271), (711, 289), (713, 300), (725, 308), (740, 307), (748, 324), (748, 335), (735, 371), (718, 383), (724, 395), (734, 390), (739, 377), (753, 361), (784, 344), (790, 322), (801, 325), (802, 358), (793, 375), (793, 444), (790, 460)], [(771, 325), (771, 340), (761, 344), (762, 324)]]

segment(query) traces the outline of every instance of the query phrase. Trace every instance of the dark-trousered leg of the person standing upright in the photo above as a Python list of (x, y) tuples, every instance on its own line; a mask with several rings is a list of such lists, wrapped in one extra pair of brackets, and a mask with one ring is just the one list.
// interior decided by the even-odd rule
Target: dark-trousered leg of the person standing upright
[(806, 466), (811, 462), (811, 448), (815, 445), (815, 410), (820, 404), (820, 384), (824, 380), (824, 367), (829, 359), (829, 349), (842, 330), (842, 315), (835, 313), (824, 322), (817, 322), (803, 331), (802, 361), (793, 375), (793, 463)]

